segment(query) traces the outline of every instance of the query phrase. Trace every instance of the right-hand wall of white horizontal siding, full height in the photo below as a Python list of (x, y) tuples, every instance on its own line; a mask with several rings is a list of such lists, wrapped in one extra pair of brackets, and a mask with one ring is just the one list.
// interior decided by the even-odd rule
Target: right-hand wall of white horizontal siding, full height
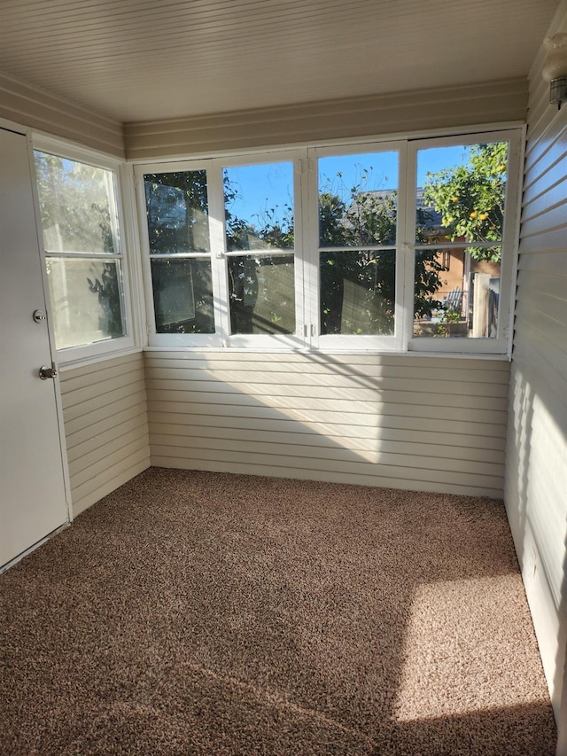
[[(566, 8), (555, 31), (567, 28)], [(530, 79), (505, 500), (567, 754), (567, 107), (548, 104), (540, 67), (541, 56)]]

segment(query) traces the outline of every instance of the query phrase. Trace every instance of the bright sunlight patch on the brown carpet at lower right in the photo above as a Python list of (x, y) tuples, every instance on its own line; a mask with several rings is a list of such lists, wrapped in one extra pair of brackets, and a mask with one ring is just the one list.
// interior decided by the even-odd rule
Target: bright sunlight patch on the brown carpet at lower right
[[(408, 622), (398, 721), (543, 702), (543, 674), (517, 574), (423, 583)], [(525, 628), (529, 628), (527, 631)]]

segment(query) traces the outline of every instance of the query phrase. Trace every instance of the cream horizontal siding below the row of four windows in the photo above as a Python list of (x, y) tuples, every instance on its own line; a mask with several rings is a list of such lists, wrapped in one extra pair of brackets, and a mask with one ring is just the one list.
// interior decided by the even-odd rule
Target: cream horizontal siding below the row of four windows
[(499, 497), (509, 363), (152, 351), (151, 464)]

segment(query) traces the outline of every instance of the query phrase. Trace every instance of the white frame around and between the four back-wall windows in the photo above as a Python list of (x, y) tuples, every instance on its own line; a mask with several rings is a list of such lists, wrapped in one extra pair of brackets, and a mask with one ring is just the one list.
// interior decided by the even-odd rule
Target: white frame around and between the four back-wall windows
[[(146, 292), (149, 347), (229, 347), (259, 351), (299, 349), (314, 353), (428, 354), (460, 356), (508, 356), (511, 353), (514, 305), (514, 282), (517, 266), (517, 231), (521, 198), (521, 160), (524, 127), (517, 124), (494, 124), (481, 129), (455, 129), (447, 136), (441, 130), (415, 136), (392, 136), (384, 139), (359, 139), (351, 142), (306, 144), (295, 148), (274, 148), (264, 151), (234, 152), (229, 155), (196, 158), (195, 160), (136, 161), (134, 173), (138, 218), (142, 238), (144, 284)], [(504, 215), (501, 248), (501, 292), (498, 334), (495, 338), (438, 339), (413, 337), (414, 323), (414, 261), (415, 261), (415, 191), (416, 155), (420, 149), (433, 146), (482, 144), (509, 141), (507, 170), (507, 205)], [(392, 336), (342, 335), (320, 333), (319, 303), (319, 229), (317, 159), (372, 152), (398, 152), (398, 208), (396, 238), (396, 304)], [(295, 334), (230, 334), (229, 284), (224, 229), (224, 195), (222, 168), (260, 165), (261, 163), (294, 161), (294, 235), (296, 280)], [(207, 169), (211, 264), (214, 286), (215, 334), (156, 334), (153, 317), (151, 270), (145, 222), (144, 173), (167, 173), (179, 170)], [(442, 245), (443, 246), (443, 245)], [(455, 247), (466, 246), (454, 243)], [(290, 250), (282, 250), (290, 253)], [(239, 253), (235, 253), (239, 254)], [(205, 336), (205, 338), (200, 338)], [(211, 338), (214, 337), (214, 338)]]

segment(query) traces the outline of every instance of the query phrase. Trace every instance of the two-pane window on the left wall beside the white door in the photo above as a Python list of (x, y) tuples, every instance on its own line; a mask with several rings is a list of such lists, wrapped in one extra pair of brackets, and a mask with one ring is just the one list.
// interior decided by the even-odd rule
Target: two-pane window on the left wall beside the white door
[(114, 171), (50, 152), (34, 157), (59, 357), (131, 346)]

